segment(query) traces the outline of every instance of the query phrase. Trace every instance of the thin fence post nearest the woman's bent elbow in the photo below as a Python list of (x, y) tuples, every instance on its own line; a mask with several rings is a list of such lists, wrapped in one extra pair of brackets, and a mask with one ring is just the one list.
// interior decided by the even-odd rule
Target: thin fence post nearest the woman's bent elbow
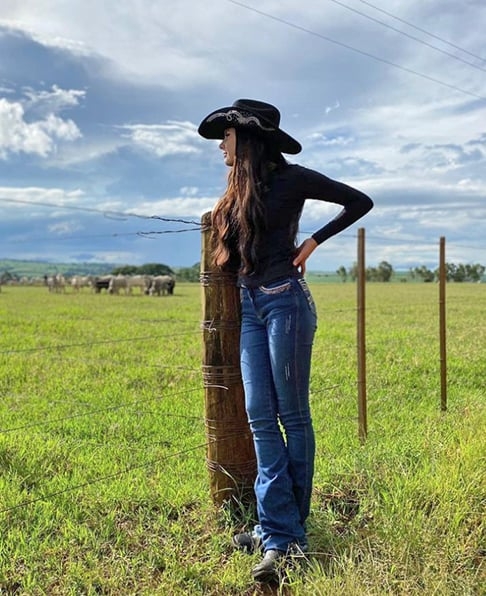
[(366, 412), (366, 269), (365, 230), (358, 229), (358, 295), (357, 295), (357, 348), (358, 348), (358, 435), (364, 443), (368, 434)]

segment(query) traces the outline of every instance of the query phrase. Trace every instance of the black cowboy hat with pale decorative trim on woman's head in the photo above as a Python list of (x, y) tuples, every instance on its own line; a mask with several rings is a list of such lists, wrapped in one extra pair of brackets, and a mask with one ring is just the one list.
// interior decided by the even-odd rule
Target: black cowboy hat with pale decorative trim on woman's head
[(255, 99), (237, 99), (232, 106), (206, 116), (198, 133), (205, 139), (222, 139), (227, 128), (244, 129), (272, 140), (282, 153), (299, 153), (301, 144), (279, 126), (280, 112), (275, 106)]

